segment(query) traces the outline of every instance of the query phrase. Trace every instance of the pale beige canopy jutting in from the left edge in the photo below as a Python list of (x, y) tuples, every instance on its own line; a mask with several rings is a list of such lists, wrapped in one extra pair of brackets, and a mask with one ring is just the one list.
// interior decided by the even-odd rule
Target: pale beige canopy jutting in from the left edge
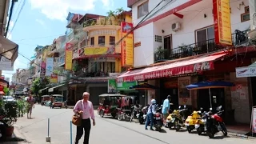
[(7, 38), (0, 36), (0, 56), (9, 59), (13, 66), (14, 61), (18, 58), (18, 45)]

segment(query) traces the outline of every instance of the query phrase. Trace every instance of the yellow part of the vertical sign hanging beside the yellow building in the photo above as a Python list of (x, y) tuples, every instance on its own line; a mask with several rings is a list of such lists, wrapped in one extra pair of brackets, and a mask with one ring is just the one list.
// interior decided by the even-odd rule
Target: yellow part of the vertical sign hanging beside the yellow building
[[(122, 33), (126, 35), (126, 33)], [(122, 66), (134, 65), (134, 34), (128, 34), (122, 40)]]

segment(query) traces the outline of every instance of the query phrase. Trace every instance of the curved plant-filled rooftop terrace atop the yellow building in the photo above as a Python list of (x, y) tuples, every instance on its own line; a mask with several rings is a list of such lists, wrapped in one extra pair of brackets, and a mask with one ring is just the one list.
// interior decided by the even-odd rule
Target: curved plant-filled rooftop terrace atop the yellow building
[(96, 18), (90, 19), (86, 22), (83, 22), (84, 31), (90, 30), (102, 30), (102, 29), (112, 29), (119, 30), (121, 28), (120, 22), (115, 18)]

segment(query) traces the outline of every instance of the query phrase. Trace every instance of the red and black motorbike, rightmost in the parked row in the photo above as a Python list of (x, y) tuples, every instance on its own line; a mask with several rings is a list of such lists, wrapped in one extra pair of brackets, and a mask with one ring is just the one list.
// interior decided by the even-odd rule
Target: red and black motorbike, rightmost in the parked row
[(218, 106), (216, 110), (218, 112), (216, 114), (212, 114), (210, 112), (209, 117), (206, 120), (206, 134), (209, 136), (209, 138), (214, 138), (214, 134), (218, 133), (219, 131), (222, 131), (224, 136), (227, 135), (226, 126), (221, 117), (224, 110), (222, 110), (222, 106)]

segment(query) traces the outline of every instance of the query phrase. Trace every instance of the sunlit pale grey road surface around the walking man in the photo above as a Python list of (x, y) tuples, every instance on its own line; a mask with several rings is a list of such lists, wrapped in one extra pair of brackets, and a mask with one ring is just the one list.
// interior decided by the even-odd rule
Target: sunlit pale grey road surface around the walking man
[[(19, 131), (26, 136), (32, 144), (45, 144), (47, 135), (47, 118), (50, 118), (51, 144), (70, 144), (70, 119), (73, 112), (70, 109), (51, 110), (46, 106), (36, 105), (33, 111), (33, 119), (19, 118), (17, 126)], [(96, 114), (96, 112), (95, 112)], [(76, 127), (73, 126), (73, 140)], [(144, 130), (138, 123), (120, 122), (112, 118), (99, 118), (96, 116), (96, 126), (92, 126), (90, 143), (105, 144), (245, 144), (255, 143), (253, 140), (242, 138), (222, 138), (217, 135), (214, 139), (198, 134), (188, 134), (186, 131), (176, 132), (167, 130), (159, 133), (156, 131)], [(79, 142), (79, 143), (82, 143)]]

